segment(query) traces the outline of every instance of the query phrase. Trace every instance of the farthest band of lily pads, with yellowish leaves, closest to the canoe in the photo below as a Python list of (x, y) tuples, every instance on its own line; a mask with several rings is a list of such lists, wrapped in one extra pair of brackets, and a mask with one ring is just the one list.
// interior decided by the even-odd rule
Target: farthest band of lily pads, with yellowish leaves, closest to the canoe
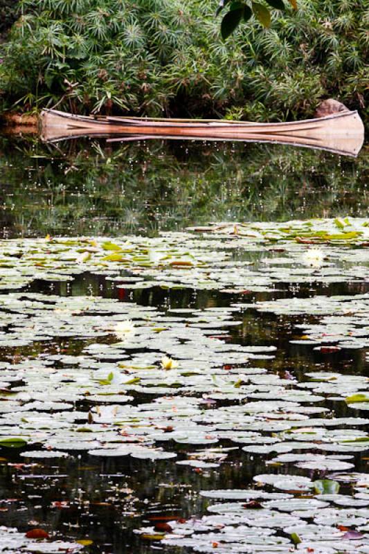
[(258, 292), (282, 282), (365, 281), (369, 249), (361, 245), (369, 242), (369, 223), (358, 218), (347, 224), (342, 221), (343, 229), (336, 233), (332, 231), (336, 220), (311, 220), (214, 225), (199, 228), (201, 235), (163, 233), (156, 238), (114, 242), (49, 236), (3, 240), (0, 289), (21, 289), (35, 278), (73, 280), (86, 271), (122, 280), (121, 286), (131, 289), (160, 286), (242, 292), (247, 288)]

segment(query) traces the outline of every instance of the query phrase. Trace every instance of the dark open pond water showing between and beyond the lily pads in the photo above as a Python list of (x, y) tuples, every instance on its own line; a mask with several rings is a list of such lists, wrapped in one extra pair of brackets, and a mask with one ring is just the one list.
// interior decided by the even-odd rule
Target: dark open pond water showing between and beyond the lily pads
[[(143, 143), (116, 145), (66, 143), (51, 147), (21, 140), (0, 141), (0, 229), (3, 238), (50, 235), (155, 234), (182, 230), (210, 220), (288, 220), (368, 214), (369, 157), (344, 159), (324, 152), (266, 145)], [(53, 283), (53, 294), (96, 294), (119, 298), (105, 278), (84, 274), (66, 285)], [(51, 291), (37, 281), (28, 290)], [(314, 293), (322, 292), (318, 284)], [(324, 294), (366, 292), (364, 285), (330, 285)], [(276, 294), (288, 296), (288, 283)], [(302, 287), (300, 296), (312, 294)], [(130, 298), (165, 311), (171, 307), (228, 306), (237, 295), (192, 289), (136, 290)], [(237, 316), (238, 317), (238, 316)], [(291, 345), (298, 318), (255, 311), (243, 316), (231, 341), (277, 346), (276, 359), (255, 361), (271, 373), (288, 370), (298, 379), (307, 371), (334, 370), (365, 375), (362, 350), (322, 355)], [(56, 343), (1, 350), (0, 361), (53, 350)], [(58, 344), (78, 354), (78, 339)], [(43, 350), (44, 349), (44, 350)], [(137, 395), (136, 403), (147, 398)], [(349, 413), (343, 402), (327, 402), (337, 417)], [(87, 409), (81, 404), (79, 409)], [(211, 407), (209, 408), (211, 409)], [(350, 415), (355, 412), (350, 410)], [(356, 414), (358, 415), (358, 414)], [(361, 414), (360, 414), (361, 415)], [(226, 441), (222, 443), (229, 446)], [(165, 445), (165, 448), (168, 446)], [(172, 446), (183, 455), (188, 446)], [(195, 450), (194, 447), (190, 448)], [(14, 449), (0, 452), (0, 525), (28, 530), (40, 525), (63, 539), (93, 540), (91, 553), (189, 552), (161, 546), (133, 533), (152, 517), (204, 515), (208, 501), (199, 490), (247, 488), (255, 474), (266, 472), (264, 456), (235, 451), (219, 468), (195, 471), (171, 461), (154, 464), (134, 458), (91, 457), (76, 453), (69, 461), (26, 463)], [(365, 472), (368, 458), (359, 453), (355, 470)], [(296, 472), (285, 465), (281, 472)], [(341, 490), (344, 492), (344, 489)], [(63, 504), (64, 503), (64, 504)], [(154, 545), (154, 549), (153, 549)]]

